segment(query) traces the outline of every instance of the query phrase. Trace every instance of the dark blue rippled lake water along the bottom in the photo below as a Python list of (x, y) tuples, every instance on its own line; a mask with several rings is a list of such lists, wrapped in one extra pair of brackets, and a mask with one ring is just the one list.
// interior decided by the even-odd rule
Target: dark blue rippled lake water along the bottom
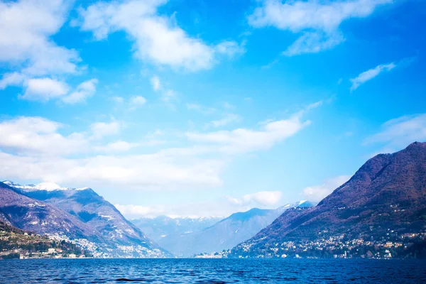
[(0, 283), (426, 283), (426, 262), (368, 259), (29, 259)]

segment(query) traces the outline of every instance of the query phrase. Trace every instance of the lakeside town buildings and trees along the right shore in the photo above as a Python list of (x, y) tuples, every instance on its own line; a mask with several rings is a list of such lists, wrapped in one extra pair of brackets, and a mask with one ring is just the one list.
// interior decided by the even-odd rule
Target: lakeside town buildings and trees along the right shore
[(195, 258), (420, 258), (426, 248), (426, 232), (398, 235), (389, 229), (386, 236), (348, 239), (343, 234), (315, 241), (285, 241), (265, 246), (252, 255), (251, 244), (231, 253), (201, 253)]

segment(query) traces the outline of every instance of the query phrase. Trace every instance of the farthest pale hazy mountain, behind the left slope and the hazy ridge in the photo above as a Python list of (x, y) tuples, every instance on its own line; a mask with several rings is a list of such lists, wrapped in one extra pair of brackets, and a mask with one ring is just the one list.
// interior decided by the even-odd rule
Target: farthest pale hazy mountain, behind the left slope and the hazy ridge
[(219, 217), (170, 218), (167, 216), (158, 216), (155, 218), (133, 219), (131, 222), (141, 229), (148, 238), (158, 243), (165, 236), (179, 236), (180, 234), (201, 231), (216, 224), (221, 219)]

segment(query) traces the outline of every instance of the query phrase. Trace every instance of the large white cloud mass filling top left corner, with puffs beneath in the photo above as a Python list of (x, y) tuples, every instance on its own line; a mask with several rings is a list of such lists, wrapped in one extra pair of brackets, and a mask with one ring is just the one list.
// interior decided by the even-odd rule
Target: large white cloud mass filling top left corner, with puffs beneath
[(65, 97), (70, 89), (63, 82), (65, 75), (78, 74), (84, 67), (76, 50), (59, 46), (52, 39), (73, 4), (73, 0), (0, 1), (0, 63), (8, 70), (0, 80), (0, 89), (23, 87), (22, 99), (61, 98), (65, 103), (80, 102), (93, 94), (91, 80)]

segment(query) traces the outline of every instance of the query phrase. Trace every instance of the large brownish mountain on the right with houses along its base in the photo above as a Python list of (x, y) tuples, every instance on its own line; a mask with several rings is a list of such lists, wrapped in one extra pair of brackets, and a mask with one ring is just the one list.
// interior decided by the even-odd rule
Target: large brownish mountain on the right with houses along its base
[(371, 158), (316, 207), (285, 211), (229, 256), (402, 256), (426, 244), (425, 231), (426, 143), (416, 142)]

